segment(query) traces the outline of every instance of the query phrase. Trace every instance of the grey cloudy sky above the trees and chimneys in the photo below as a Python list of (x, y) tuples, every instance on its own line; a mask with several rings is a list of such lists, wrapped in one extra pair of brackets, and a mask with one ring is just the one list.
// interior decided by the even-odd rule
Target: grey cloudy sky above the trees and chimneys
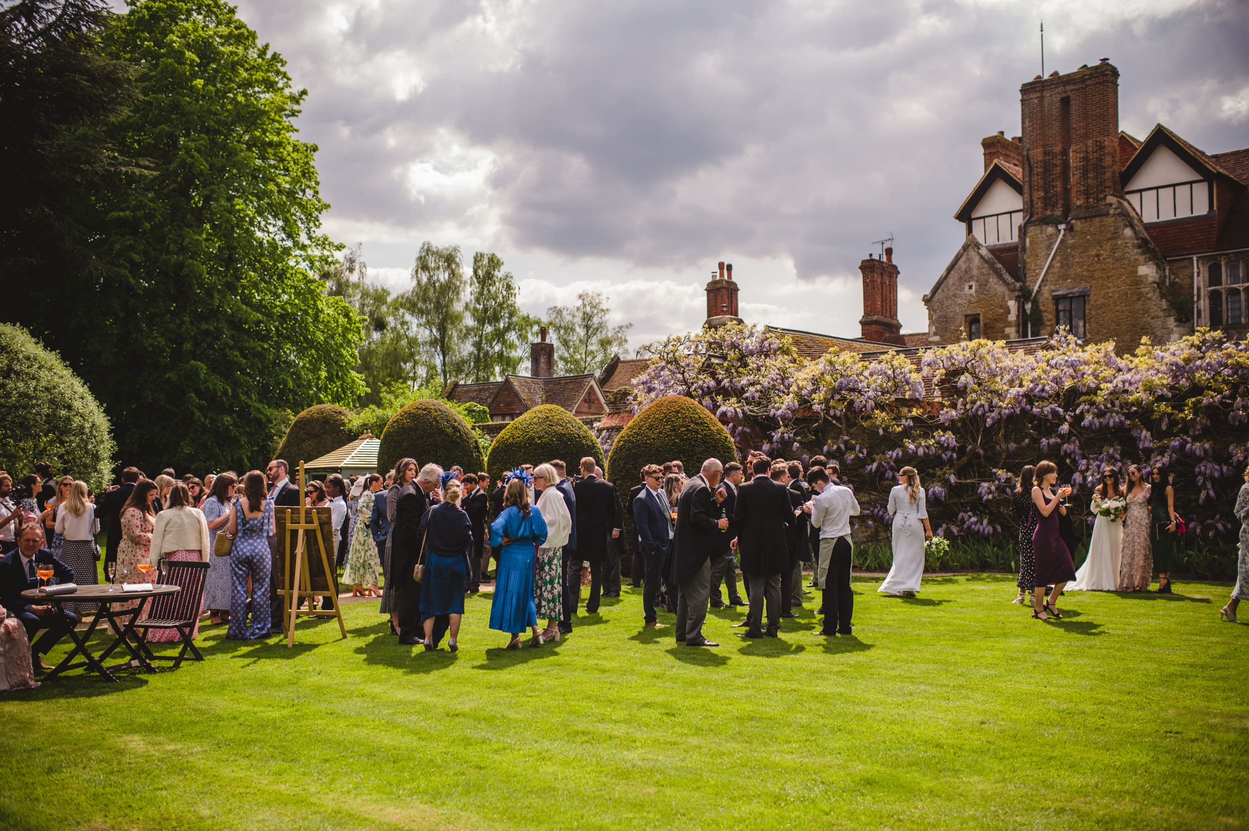
[(893, 234), (903, 331), (962, 244), (979, 140), (1019, 85), (1109, 57), (1123, 129), (1249, 145), (1244, 0), (244, 0), (307, 87), (327, 231), (407, 282), (423, 240), (490, 250), (542, 314), (605, 291), (632, 345), (741, 311), (857, 336)]

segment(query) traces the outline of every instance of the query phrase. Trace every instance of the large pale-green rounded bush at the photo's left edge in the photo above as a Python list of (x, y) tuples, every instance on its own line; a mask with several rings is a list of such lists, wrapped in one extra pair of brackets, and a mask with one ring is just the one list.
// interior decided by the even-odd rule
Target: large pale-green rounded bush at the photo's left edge
[(0, 470), (14, 480), (46, 461), (91, 490), (109, 482), (112, 430), (91, 390), (21, 326), (0, 324)]

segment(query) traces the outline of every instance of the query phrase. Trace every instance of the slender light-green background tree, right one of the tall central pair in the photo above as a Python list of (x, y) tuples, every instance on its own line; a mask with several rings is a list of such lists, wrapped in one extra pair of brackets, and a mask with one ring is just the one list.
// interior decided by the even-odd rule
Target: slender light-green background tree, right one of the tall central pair
[(521, 311), (516, 302), (518, 294), (516, 277), (503, 271), (497, 254), (472, 255), (463, 380), (493, 381), (516, 372), (525, 360), (525, 346), (536, 321)]

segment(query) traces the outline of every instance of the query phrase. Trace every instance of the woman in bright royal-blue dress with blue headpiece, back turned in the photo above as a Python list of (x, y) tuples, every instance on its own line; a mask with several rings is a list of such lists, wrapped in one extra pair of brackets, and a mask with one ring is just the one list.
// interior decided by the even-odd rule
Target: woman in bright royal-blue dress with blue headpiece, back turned
[(512, 474), (503, 494), (503, 510), (490, 525), (490, 547), (498, 551), (495, 575), (495, 600), (490, 606), (490, 627), (512, 636), (507, 649), (521, 649), (521, 632), (533, 630), (533, 645), (542, 644), (537, 609), (533, 605), (533, 561), (546, 542), (546, 521), (530, 505), (530, 475)]

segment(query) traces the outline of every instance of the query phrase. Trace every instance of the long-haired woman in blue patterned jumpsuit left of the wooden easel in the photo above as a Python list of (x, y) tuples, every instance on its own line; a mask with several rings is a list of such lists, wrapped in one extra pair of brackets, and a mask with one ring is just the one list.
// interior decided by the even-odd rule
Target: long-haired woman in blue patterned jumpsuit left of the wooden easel
[[(265, 475), (254, 470), (242, 477), (242, 497), (230, 511), (230, 629), (226, 637), (255, 640), (269, 635), (269, 579), (272, 562), (269, 534), (274, 527), (274, 504), (265, 497)], [(251, 604), (247, 577), (251, 577)], [(251, 611), (251, 627), (247, 612)]]

